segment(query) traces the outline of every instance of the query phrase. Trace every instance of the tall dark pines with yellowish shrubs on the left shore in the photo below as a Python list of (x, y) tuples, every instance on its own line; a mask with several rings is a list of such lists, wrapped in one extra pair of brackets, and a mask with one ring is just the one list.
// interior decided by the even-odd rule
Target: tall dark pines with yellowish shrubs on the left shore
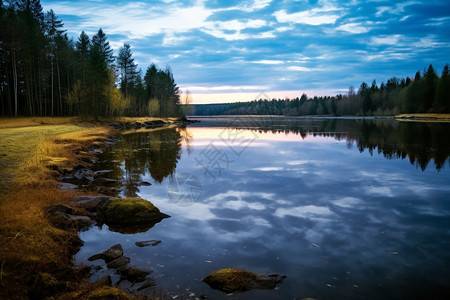
[[(0, 116), (178, 116), (169, 67), (138, 70), (99, 29), (74, 41), (39, 0), (0, 0)], [(119, 88), (118, 88), (119, 87)]]

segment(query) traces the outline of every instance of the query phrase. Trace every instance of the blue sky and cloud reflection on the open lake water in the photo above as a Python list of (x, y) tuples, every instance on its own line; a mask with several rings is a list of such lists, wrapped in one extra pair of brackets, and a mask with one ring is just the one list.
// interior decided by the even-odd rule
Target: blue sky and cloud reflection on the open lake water
[[(196, 136), (196, 128), (189, 130)], [(90, 230), (83, 234), (79, 259), (121, 242), (133, 260), (164, 274), (158, 283), (169, 290), (186, 284), (201, 291), (198, 279), (222, 267), (288, 275), (279, 291), (258, 294), (259, 299), (398, 298), (429, 295), (446, 285), (449, 170), (423, 172), (407, 160), (360, 153), (333, 137), (315, 143), (308, 136), (301, 143), (287, 138), (255, 144), (212, 182), (193, 158), (220, 138), (198, 136), (190, 153), (183, 148), (176, 172), (200, 178), (202, 198), (179, 207), (168, 199), (167, 178), (152, 181), (139, 195), (172, 218), (137, 235)], [(225, 144), (216, 146), (228, 151)], [(144, 178), (151, 181), (148, 174)], [(133, 247), (149, 239), (163, 242), (151, 249)], [(148, 259), (149, 253), (156, 256)], [(414, 280), (424, 286), (416, 288)]]

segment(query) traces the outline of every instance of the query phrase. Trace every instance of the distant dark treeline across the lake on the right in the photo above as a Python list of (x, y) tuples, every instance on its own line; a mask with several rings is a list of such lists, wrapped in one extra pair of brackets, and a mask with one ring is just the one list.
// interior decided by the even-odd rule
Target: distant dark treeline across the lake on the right
[(432, 65), (414, 78), (393, 77), (386, 83), (363, 82), (347, 95), (295, 99), (258, 99), (251, 102), (189, 105), (190, 115), (396, 115), (399, 113), (450, 113), (448, 64), (440, 76)]

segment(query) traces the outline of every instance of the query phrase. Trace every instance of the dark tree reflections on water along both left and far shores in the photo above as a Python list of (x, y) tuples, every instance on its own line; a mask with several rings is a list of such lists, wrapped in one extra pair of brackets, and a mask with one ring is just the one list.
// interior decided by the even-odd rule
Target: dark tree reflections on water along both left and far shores
[[(336, 118), (202, 118), (195, 127), (227, 127), (232, 121), (238, 130), (333, 137), (346, 140), (348, 147), (360, 152), (374, 151), (388, 159), (408, 159), (426, 170), (430, 162), (437, 171), (450, 156), (450, 123), (400, 122), (392, 119)], [(250, 124), (250, 125), (249, 125)], [(181, 157), (181, 146), (191, 154), (193, 140), (189, 128), (164, 128), (129, 132), (122, 141), (101, 155), (96, 170), (113, 170), (109, 175), (118, 180), (117, 193), (132, 197), (139, 193), (143, 177), (150, 174), (156, 183), (173, 176)]]

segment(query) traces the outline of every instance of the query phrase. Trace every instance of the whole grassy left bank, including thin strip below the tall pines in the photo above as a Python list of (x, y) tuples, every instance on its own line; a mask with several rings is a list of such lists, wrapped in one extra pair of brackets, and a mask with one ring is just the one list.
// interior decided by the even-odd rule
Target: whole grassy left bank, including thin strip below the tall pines
[[(175, 121), (114, 120), (123, 127)], [(89, 269), (73, 261), (82, 245), (78, 229), (57, 228), (48, 215), (50, 206), (73, 205), (78, 193), (60, 189), (58, 172), (89, 167), (116, 134), (104, 122), (76, 118), (0, 119), (1, 299), (97, 299), (105, 293), (127, 299), (120, 290), (89, 282)]]

